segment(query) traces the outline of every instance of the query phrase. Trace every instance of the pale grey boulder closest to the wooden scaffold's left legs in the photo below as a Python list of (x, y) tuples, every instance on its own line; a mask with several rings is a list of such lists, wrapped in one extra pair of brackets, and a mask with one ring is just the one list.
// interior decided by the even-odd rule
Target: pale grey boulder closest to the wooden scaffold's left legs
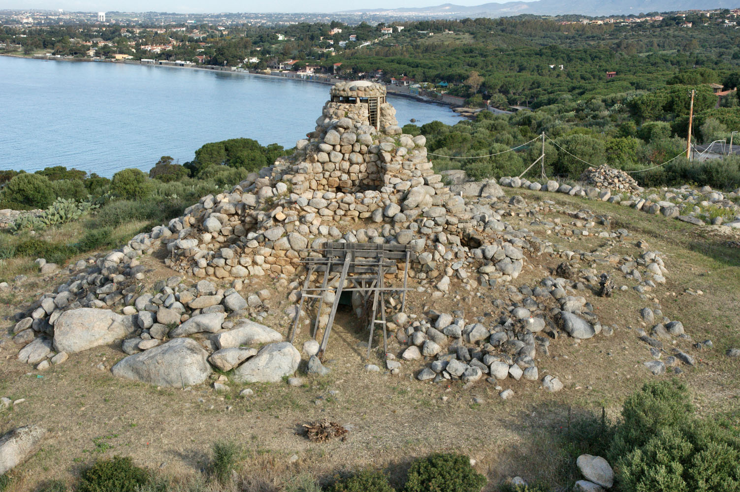
[(300, 363), (300, 352), (288, 342), (270, 343), (260, 348), (235, 369), (232, 377), (237, 383), (277, 383), (295, 373)]

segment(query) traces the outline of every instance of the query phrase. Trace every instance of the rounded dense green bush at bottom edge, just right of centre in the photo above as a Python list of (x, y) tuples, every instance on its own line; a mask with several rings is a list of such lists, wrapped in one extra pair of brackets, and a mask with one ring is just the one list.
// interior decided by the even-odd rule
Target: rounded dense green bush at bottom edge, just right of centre
[(411, 463), (404, 492), (480, 492), (482, 476), (462, 454), (432, 454)]

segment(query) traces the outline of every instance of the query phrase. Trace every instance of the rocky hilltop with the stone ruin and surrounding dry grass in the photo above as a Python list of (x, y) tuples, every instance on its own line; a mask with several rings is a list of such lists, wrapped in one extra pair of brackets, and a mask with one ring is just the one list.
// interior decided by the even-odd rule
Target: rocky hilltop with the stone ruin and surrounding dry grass
[[(7, 491), (66, 488), (114, 454), (188, 491), (315, 487), (366, 466), (401, 488), (411, 459), (441, 450), (469, 456), (485, 491), (513, 476), (570, 489), (625, 398), (673, 378), (736, 428), (740, 190), (604, 169), (448, 184), (385, 95), (336, 84), (289, 157), (118, 249), (1, 285), (0, 422), (48, 431)], [(357, 259), (369, 245), (385, 274)], [(329, 249), (353, 253), (323, 274), (311, 265)], [(388, 286), (374, 336), (367, 281)], [(349, 434), (308, 439), (324, 418)], [(196, 489), (229, 439), (238, 471)], [(620, 473), (612, 490), (629, 491)]]

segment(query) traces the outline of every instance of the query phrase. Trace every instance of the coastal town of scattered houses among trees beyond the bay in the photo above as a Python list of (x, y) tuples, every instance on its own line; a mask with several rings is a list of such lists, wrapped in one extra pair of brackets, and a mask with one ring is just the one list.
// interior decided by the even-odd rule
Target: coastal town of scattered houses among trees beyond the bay
[[(256, 15), (256, 14), (255, 14)], [(263, 16), (260, 14), (259, 16)], [(689, 10), (670, 15), (610, 16), (605, 18), (577, 18), (563, 16), (563, 28), (576, 25), (636, 26), (656, 24), (676, 29), (696, 25), (715, 25), (737, 29), (740, 9)], [(575, 18), (574, 18), (575, 17)], [(386, 84), (388, 91), (401, 95), (438, 101), (453, 107), (465, 107), (461, 112), (474, 114), (470, 107), (493, 109), (494, 112), (512, 112), (527, 109), (528, 101), (519, 98), (468, 101), (465, 80), (419, 80), (383, 65), (362, 70), (353, 64), (337, 62), (337, 55), (362, 53), (369, 47), (392, 49), (409, 43), (445, 43), (459, 41), (460, 33), (447, 28), (418, 29), (408, 21), (366, 22), (345, 24), (328, 21), (326, 24), (302, 24), (275, 21), (272, 26), (263, 18), (236, 17), (224, 14), (222, 18), (142, 18), (101, 12), (64, 13), (48, 11), (7, 11), (0, 16), (6, 28), (5, 39), (0, 38), (4, 53), (24, 53), (36, 58), (55, 58), (88, 61), (135, 62), (175, 67), (201, 67), (212, 70), (230, 70), (263, 75), (277, 75), (321, 81), (332, 84), (340, 80), (364, 79)], [(53, 24), (84, 23), (64, 36), (43, 36)], [(161, 24), (161, 27), (152, 27)], [(411, 26), (410, 29), (406, 27)], [(41, 35), (41, 36), (40, 36)], [(29, 38), (40, 36), (38, 41)], [(464, 36), (464, 35), (463, 35)], [(230, 44), (226, 48), (224, 42)], [(234, 47), (234, 45), (237, 45)], [(567, 61), (554, 59), (543, 65), (551, 70), (568, 70)], [(619, 74), (605, 70), (605, 79)], [(721, 92), (721, 91), (716, 91)], [(721, 99), (733, 97), (727, 92)]]

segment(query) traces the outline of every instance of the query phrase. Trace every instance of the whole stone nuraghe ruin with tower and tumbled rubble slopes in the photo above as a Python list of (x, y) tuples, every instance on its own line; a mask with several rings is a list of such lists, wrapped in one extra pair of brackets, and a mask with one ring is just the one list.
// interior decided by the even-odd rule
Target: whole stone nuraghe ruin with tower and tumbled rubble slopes
[[(499, 200), (504, 194), (495, 181), (445, 186), (432, 171), (425, 138), (398, 127), (382, 85), (340, 83), (330, 94), (315, 129), (297, 141), (291, 156), (229, 192), (201, 198), (182, 217), (137, 235), (115, 252), (64, 269), (65, 283), (17, 315), (19, 359), (43, 369), (75, 352), (121, 343), (128, 357), (113, 365), (112, 373), (155, 385), (200, 384), (213, 367), (232, 371), (229, 378), (238, 383), (277, 382), (294, 375), (302, 357), (309, 360), (309, 373), (324, 374), (315, 357), (318, 343), (306, 340), (315, 332), (301, 331), (303, 356), (286, 341), (299, 314), (306, 323), (317, 319), (319, 329), (327, 325), (326, 307), (300, 312), (305, 260), (327, 242), (376, 243), (407, 246), (408, 269), (399, 260), (389, 282), (406, 276), (409, 289), (428, 300), (468, 291), (491, 311), (466, 320), (462, 311), (407, 306), (408, 313), (399, 312), (396, 303), (388, 309), (391, 348), (385, 363), (391, 374), (406, 365), (419, 380), (474, 383), (485, 377), (497, 384), (521, 378), (541, 380), (557, 391), (562, 383), (552, 374), (542, 377), (536, 357), (547, 356), (559, 337), (580, 340), (612, 332), (579, 290), (596, 292), (600, 282), (612, 286), (609, 276), (619, 274), (643, 290), (665, 282), (665, 265), (656, 252), (636, 248), (635, 257), (609, 252), (626, 244), (628, 232), (622, 229), (599, 233), (611, 246), (559, 251), (505, 221), (517, 215), (546, 223), (551, 205), (524, 209), (519, 196)], [(608, 224), (588, 212), (573, 212), (573, 219), (582, 228), (599, 220)], [(532, 287), (515, 285), (523, 268), (542, 272), (537, 263), (548, 259), (562, 263), (551, 275), (531, 279)], [(180, 275), (148, 281), (156, 261)], [(320, 283), (320, 275), (313, 276), (309, 280)], [(246, 292), (260, 277), (272, 279), (279, 301), (266, 289)], [(324, 294), (332, 297), (338, 277), (329, 280)], [(269, 317), (277, 303), (283, 303), (280, 312)], [(658, 318), (656, 337), (685, 336), (680, 322), (661, 320), (660, 314), (650, 311)], [(683, 356), (690, 357), (677, 354)], [(650, 363), (650, 370), (665, 371), (662, 362)], [(217, 389), (224, 378), (215, 382)], [(511, 390), (502, 391), (502, 397), (510, 395)]]

